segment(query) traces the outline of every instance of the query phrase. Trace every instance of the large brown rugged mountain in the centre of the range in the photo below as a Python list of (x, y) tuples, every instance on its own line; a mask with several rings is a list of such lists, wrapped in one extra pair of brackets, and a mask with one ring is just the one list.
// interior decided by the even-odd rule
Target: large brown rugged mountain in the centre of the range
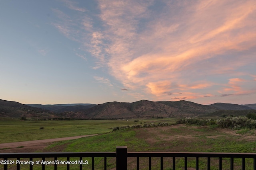
[(135, 118), (135, 117), (186, 117), (211, 113), (217, 109), (184, 100), (177, 102), (152, 102), (140, 100), (133, 103), (108, 102), (90, 109), (78, 111), (90, 118)]

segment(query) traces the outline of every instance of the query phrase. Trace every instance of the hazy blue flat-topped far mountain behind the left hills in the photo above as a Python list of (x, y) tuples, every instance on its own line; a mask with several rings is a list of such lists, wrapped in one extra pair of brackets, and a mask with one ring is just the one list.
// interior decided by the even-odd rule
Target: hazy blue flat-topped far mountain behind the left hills
[(96, 104), (46, 104), (46, 105), (27, 104), (27, 105), (54, 111), (54, 113), (70, 112), (70, 111), (76, 111), (80, 109), (89, 109), (93, 106), (96, 106)]

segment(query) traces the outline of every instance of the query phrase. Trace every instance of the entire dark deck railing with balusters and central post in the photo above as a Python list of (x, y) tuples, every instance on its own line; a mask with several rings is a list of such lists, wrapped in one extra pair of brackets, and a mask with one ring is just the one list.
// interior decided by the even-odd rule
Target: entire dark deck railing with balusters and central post
[[(94, 158), (101, 157), (104, 158), (104, 170), (107, 169), (107, 158), (116, 158), (116, 170), (127, 170), (128, 166), (128, 158), (135, 157), (136, 158), (136, 168), (139, 170), (140, 168), (140, 158), (145, 157), (148, 158), (148, 168), (144, 169), (151, 170), (152, 169), (152, 158), (158, 157), (160, 158), (160, 170), (164, 169), (164, 158), (172, 158), (172, 169), (176, 169), (176, 158), (184, 158), (184, 169), (188, 168), (188, 158), (196, 159), (195, 169), (199, 170), (199, 158), (207, 158), (207, 169), (210, 170), (211, 167), (211, 158), (218, 158), (218, 169), (222, 170), (222, 160), (223, 158), (230, 158), (230, 170), (234, 169), (234, 158), (241, 158), (241, 168), (245, 170), (246, 167), (246, 158), (252, 159), (253, 170), (256, 170), (256, 153), (216, 153), (216, 152), (127, 152), (126, 146), (116, 147), (116, 152), (44, 152), (44, 153), (0, 153), (0, 169), (8, 170), (8, 166), (12, 166), (10, 164), (15, 164), (15, 162), (21, 161), (21, 158), (29, 158), (28, 164), (29, 169), (32, 170), (35, 162), (33, 158), (42, 158), (42, 160), (38, 162), (39, 166), (42, 166), (42, 170), (45, 169), (46, 164), (42, 163), (42, 161), (46, 161), (46, 158), (54, 158), (53, 161), (49, 161), (51, 164), (54, 164), (54, 170), (58, 169), (58, 164), (60, 164), (60, 160), (58, 158), (66, 158), (66, 169), (70, 169), (70, 158), (79, 158), (76, 164), (79, 165), (79, 169), (83, 169), (84, 163), (90, 163), (92, 170), (94, 170)], [(15, 158), (16, 160), (13, 160)], [(91, 162), (84, 162), (83, 158), (91, 158)], [(30, 161), (30, 162), (29, 162)], [(87, 160), (86, 160), (87, 161)], [(215, 161), (215, 160), (214, 160)], [(15, 164), (16, 169), (20, 170), (20, 164)], [(73, 161), (74, 163), (74, 161)], [(216, 161), (215, 161), (216, 163)], [(13, 166), (12, 166), (13, 168)], [(86, 168), (88, 169), (88, 168)]]

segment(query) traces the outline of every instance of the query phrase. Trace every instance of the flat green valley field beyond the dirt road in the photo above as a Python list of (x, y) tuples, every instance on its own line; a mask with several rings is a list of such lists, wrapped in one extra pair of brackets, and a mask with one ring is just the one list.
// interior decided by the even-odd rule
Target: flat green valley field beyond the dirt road
[[(174, 123), (174, 119), (136, 119), (131, 120), (76, 120), (76, 121), (21, 121), (0, 118), (0, 143), (31, 141), (59, 137), (102, 134), (113, 127), (154, 122)], [(42, 129), (43, 127), (44, 129)], [(41, 129), (40, 129), (41, 128)]]

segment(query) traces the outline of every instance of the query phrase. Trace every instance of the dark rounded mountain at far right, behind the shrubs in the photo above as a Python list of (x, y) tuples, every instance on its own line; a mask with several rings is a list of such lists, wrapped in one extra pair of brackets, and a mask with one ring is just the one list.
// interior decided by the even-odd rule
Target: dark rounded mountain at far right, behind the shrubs
[(228, 103), (214, 103), (208, 106), (212, 106), (218, 110), (250, 110), (251, 107), (238, 105), (238, 104), (228, 104)]

